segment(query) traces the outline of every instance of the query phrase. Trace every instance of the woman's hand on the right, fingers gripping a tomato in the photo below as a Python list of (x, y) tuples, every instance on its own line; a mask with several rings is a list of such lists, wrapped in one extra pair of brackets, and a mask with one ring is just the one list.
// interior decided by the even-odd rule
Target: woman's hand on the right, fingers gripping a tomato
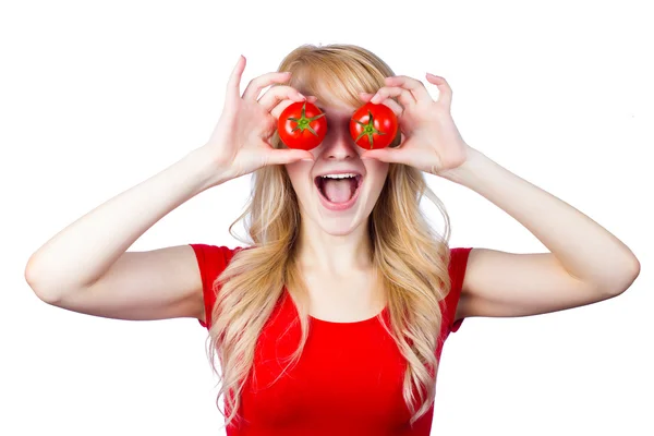
[[(361, 94), (364, 101), (384, 104), (398, 117), (402, 141), (397, 148), (364, 150), (361, 158), (404, 164), (441, 175), (461, 166), (470, 146), (465, 144), (450, 113), (452, 90), (445, 78), (427, 73), (427, 81), (438, 87), (434, 101), (425, 85), (412, 77), (386, 77), (377, 94)], [(399, 105), (391, 97), (397, 97)]]

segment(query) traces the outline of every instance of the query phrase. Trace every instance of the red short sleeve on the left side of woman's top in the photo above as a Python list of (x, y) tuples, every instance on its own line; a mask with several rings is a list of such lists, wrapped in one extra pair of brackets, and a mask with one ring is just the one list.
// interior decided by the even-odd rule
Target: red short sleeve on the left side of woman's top
[(202, 276), (202, 289), (205, 305), (205, 319), (197, 319), (199, 324), (209, 329), (211, 327), (211, 312), (216, 303), (216, 293), (214, 282), (218, 276), (227, 268), (227, 265), (233, 255), (242, 247), (229, 249), (225, 245), (189, 244), (195, 252), (199, 275)]

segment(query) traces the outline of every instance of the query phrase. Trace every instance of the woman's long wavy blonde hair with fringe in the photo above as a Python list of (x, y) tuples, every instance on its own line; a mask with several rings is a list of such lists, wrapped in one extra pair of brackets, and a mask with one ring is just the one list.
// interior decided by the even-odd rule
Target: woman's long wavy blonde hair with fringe
[[(305, 95), (315, 95), (326, 104), (355, 107), (363, 104), (360, 92), (375, 93), (384, 86), (385, 76), (393, 75), (377, 56), (353, 45), (301, 46), (282, 60), (278, 71), (291, 71), (290, 85)], [(271, 144), (283, 147), (277, 133)], [(423, 196), (440, 211), (444, 235), (431, 228), (421, 211)], [(232, 227), (243, 218), (249, 241), (232, 233)], [(300, 314), (302, 329), (290, 363), (296, 363), (306, 342), (307, 291), (295, 250), (300, 220), (298, 197), (284, 166), (255, 171), (246, 209), (229, 228), (234, 238), (250, 246), (234, 255), (214, 283), (214, 290), (220, 290), (211, 313), (208, 351), (214, 373), (218, 375), (216, 354), (222, 368), (217, 403), (225, 395), (226, 426), (240, 420), (241, 392), (252, 368), (255, 344), (284, 284)], [(439, 302), (450, 290), (449, 217), (420, 170), (389, 164), (387, 180), (368, 217), (368, 229), (371, 258), (387, 301), (390, 326), (385, 327), (408, 363), (403, 399), (413, 424), (435, 398), (436, 349), (443, 322)]]

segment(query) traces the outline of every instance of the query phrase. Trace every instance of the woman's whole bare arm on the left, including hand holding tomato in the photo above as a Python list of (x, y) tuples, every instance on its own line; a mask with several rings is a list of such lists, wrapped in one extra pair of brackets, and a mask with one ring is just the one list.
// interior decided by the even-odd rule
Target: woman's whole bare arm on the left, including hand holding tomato
[(202, 276), (190, 245), (126, 250), (164, 216), (211, 186), (266, 165), (313, 159), (310, 152), (276, 149), (268, 143), (281, 111), (304, 97), (290, 86), (259, 94), (289, 76), (261, 75), (241, 96), (244, 68), (245, 58), (240, 58), (207, 144), (84, 215), (29, 257), (25, 279), (39, 299), (111, 318), (204, 320)]

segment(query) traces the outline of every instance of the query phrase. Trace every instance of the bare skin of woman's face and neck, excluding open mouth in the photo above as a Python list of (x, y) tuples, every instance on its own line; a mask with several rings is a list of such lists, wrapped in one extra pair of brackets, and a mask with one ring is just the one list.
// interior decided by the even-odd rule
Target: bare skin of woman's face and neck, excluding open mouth
[[(286, 165), (302, 216), (300, 259), (305, 268), (322, 276), (347, 277), (372, 267), (367, 219), (379, 197), (389, 165), (361, 158), (363, 149), (354, 144), (349, 133), (349, 120), (356, 108), (316, 104), (327, 114), (327, 136), (310, 150), (314, 161)], [(326, 170), (352, 167), (365, 174), (356, 204), (344, 211), (324, 208), (314, 185), (315, 175)]]

